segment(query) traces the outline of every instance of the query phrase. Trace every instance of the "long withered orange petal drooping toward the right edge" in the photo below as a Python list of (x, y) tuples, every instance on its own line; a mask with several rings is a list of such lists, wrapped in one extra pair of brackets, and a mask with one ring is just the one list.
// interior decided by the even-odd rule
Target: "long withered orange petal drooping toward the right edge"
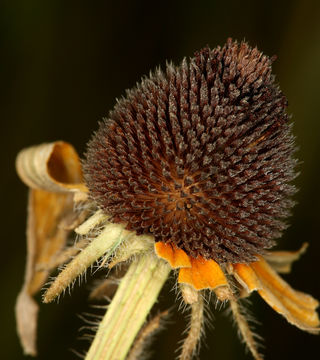
[(320, 322), (315, 309), (318, 301), (290, 287), (261, 257), (250, 265), (234, 264), (234, 276), (249, 292), (260, 296), (289, 323), (302, 330), (318, 333)]

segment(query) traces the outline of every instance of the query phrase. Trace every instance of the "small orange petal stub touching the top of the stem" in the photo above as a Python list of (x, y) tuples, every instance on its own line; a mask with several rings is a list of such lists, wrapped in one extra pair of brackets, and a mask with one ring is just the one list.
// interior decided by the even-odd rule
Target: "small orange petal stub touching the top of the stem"
[(175, 245), (159, 241), (154, 248), (158, 257), (167, 260), (173, 269), (191, 267), (189, 256)]

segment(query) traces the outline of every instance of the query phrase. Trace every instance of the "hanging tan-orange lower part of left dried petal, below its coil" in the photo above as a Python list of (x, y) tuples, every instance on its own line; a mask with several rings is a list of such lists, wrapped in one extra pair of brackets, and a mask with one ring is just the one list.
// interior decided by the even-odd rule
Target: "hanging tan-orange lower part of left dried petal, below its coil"
[(72, 211), (72, 208), (72, 194), (30, 190), (26, 272), (16, 306), (17, 330), (26, 354), (36, 353), (37, 305), (32, 296), (48, 278), (46, 266), (65, 246), (70, 231), (59, 227), (59, 222), (61, 214)]

